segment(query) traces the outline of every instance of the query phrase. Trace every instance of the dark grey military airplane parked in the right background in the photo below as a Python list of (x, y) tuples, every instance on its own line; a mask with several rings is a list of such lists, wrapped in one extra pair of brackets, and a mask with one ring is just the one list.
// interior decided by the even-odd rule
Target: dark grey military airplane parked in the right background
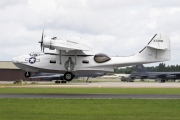
[(156, 79), (165, 82), (169, 79), (180, 79), (180, 72), (148, 72), (143, 65), (136, 65), (137, 73), (131, 73), (131, 79)]

